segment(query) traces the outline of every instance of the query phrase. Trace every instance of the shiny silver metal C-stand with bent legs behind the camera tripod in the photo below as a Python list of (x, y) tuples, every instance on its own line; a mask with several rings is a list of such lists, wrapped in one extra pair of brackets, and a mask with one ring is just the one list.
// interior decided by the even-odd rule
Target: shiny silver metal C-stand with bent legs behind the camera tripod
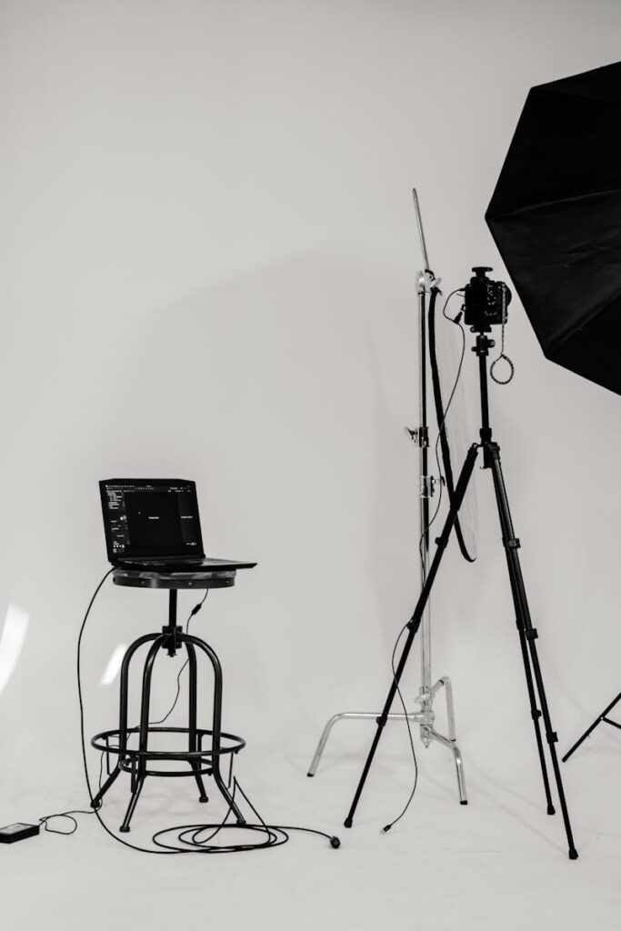
[[(421, 590), (425, 585), (427, 569), (429, 565), (429, 500), (433, 496), (436, 479), (428, 474), (429, 460), (429, 429), (427, 425), (427, 332), (426, 332), (426, 314), (427, 314), (427, 296), (432, 287), (439, 283), (433, 272), (429, 268), (429, 260), (425, 244), (425, 233), (423, 230), (423, 221), (418, 203), (416, 190), (412, 190), (414, 200), (414, 210), (416, 212), (416, 222), (418, 223), (418, 232), (423, 250), (424, 269), (419, 273), (417, 280), (418, 294), (418, 319), (419, 319), (419, 410), (420, 421), (416, 429), (406, 427), (406, 432), (412, 441), (418, 446), (419, 450), (419, 520), (420, 520), (420, 563), (421, 563)], [(437, 741), (443, 747), (452, 751), (455, 762), (455, 771), (457, 775), (457, 788), (459, 790), (459, 801), (461, 804), (467, 804), (466, 797), (466, 778), (464, 776), (464, 764), (462, 754), (457, 746), (457, 735), (455, 732), (455, 712), (452, 701), (452, 684), (448, 676), (442, 676), (437, 682), (432, 684), (431, 681), (431, 616), (429, 602), (425, 607), (423, 622), (421, 624), (421, 686), (418, 692), (416, 702), (420, 705), (420, 711), (412, 711), (408, 714), (388, 715), (388, 721), (405, 721), (420, 725), (420, 736), (425, 748), (429, 747), (432, 741)], [(448, 736), (439, 734), (435, 728), (436, 713), (433, 709), (434, 699), (441, 688), (444, 688), (446, 698), (446, 712)], [(321, 755), (328, 742), (331, 730), (339, 721), (373, 721), (377, 722), (379, 711), (340, 711), (332, 715), (326, 723), (323, 732), (319, 738), (315, 756), (308, 769), (308, 776), (315, 776), (317, 766)]]

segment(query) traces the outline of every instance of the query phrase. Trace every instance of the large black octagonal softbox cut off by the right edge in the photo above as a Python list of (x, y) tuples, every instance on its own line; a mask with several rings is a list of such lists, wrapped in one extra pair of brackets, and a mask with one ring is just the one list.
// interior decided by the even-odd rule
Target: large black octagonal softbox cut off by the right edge
[(532, 88), (485, 219), (547, 358), (621, 394), (621, 62)]

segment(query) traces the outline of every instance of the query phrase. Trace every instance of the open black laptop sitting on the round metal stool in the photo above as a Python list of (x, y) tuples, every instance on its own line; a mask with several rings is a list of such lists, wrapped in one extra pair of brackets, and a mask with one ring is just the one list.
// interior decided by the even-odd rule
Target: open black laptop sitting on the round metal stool
[(205, 556), (196, 483), (187, 479), (100, 481), (108, 559), (139, 572), (228, 572), (256, 562)]

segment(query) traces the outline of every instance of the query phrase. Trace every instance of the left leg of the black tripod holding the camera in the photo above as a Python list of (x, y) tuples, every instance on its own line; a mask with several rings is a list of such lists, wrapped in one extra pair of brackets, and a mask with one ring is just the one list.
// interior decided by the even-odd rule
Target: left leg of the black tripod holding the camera
[(412, 619), (408, 623), (410, 632), (403, 646), (403, 651), (398, 661), (397, 671), (395, 672), (395, 675), (393, 676), (393, 680), (390, 683), (390, 689), (388, 691), (388, 696), (385, 701), (384, 710), (382, 711), (382, 714), (380, 715), (380, 717), (377, 719), (377, 729), (375, 731), (375, 735), (373, 736), (373, 741), (371, 743), (371, 749), (369, 750), (369, 755), (367, 756), (367, 760), (364, 764), (362, 775), (360, 776), (360, 779), (358, 781), (358, 788), (356, 789), (356, 793), (354, 795), (354, 801), (351, 803), (349, 814), (344, 820), (345, 828), (351, 828), (352, 824), (354, 823), (354, 815), (356, 814), (356, 809), (358, 807), (358, 801), (360, 799), (360, 795), (362, 794), (362, 789), (364, 789), (364, 784), (367, 781), (367, 776), (369, 775), (369, 770), (371, 769), (371, 763), (373, 762), (373, 757), (375, 756), (377, 745), (380, 742), (380, 737), (382, 736), (382, 732), (385, 728), (385, 723), (388, 719), (390, 708), (392, 708), (392, 703), (395, 700), (395, 695), (397, 695), (398, 683), (401, 680), (403, 670), (408, 661), (408, 656), (412, 649), (412, 643), (414, 642), (414, 638), (416, 636), (418, 628), (420, 627), (421, 621), (423, 620), (423, 615), (425, 614), (425, 606), (426, 606), (427, 601), (429, 600), (429, 595), (431, 594), (431, 587), (433, 586), (434, 579), (436, 578), (436, 574), (438, 573), (439, 563), (442, 559), (442, 555), (449, 542), (449, 537), (451, 536), (452, 528), (455, 524), (455, 520), (457, 519), (459, 508), (462, 504), (462, 501), (464, 500), (464, 495), (466, 494), (466, 488), (468, 486), (469, 480), (472, 477), (472, 470), (474, 469), (478, 452), (479, 452), (479, 447), (476, 444), (471, 446), (467, 452), (464, 466), (462, 466), (462, 471), (457, 481), (457, 486), (455, 488), (455, 493), (453, 495), (451, 507), (449, 508), (449, 513), (447, 514), (446, 520), (444, 522), (442, 533), (440, 533), (439, 538), (436, 541), (437, 543), (436, 552), (431, 562), (431, 566), (429, 567), (429, 572), (427, 573), (425, 585), (423, 586), (423, 590), (421, 591), (419, 599), (416, 602), (416, 607), (414, 608)]

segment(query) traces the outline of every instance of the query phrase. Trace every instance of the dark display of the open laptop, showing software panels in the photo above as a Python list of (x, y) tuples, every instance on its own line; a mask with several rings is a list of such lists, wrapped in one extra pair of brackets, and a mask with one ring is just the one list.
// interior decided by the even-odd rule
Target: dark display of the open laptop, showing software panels
[(113, 479), (101, 504), (111, 558), (203, 555), (194, 482)]

